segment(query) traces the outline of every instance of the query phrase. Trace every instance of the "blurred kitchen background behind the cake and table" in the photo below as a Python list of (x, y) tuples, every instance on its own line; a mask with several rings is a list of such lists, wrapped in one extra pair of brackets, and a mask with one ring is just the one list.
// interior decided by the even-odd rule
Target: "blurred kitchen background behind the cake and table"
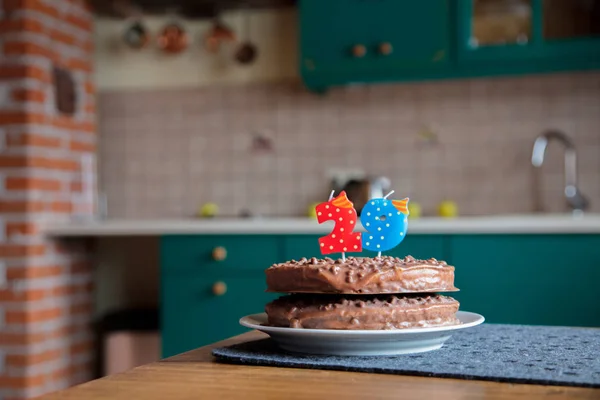
[(0, 399), (243, 332), (332, 189), (462, 309), (600, 326), (598, 0), (4, 0), (0, 57)]

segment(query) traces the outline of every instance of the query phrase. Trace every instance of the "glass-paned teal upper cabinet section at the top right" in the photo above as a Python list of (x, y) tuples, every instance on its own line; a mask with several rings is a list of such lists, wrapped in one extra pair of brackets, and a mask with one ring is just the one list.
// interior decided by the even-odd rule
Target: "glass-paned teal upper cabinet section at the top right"
[(600, 64), (600, 0), (464, 0), (457, 21), (457, 59), (467, 70), (528, 73)]

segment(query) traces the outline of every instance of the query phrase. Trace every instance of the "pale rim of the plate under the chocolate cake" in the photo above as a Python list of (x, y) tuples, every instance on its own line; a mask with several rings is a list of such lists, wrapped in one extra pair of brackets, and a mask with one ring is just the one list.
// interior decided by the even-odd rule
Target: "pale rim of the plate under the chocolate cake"
[[(252, 323), (249, 320), (257, 321), (257, 316), (266, 317), (267, 313), (255, 313), (249, 314), (240, 318), (239, 323), (242, 326), (250, 329), (256, 329), (265, 333), (282, 333), (282, 334), (295, 334), (295, 335), (326, 335), (326, 336), (388, 336), (388, 335), (408, 335), (408, 334), (419, 334), (419, 333), (435, 333), (435, 332), (446, 332), (459, 329), (471, 328), (477, 325), (481, 325), (485, 322), (485, 317), (481, 314), (477, 314), (470, 311), (457, 311), (456, 317), (461, 320), (461, 317), (467, 316), (475, 317), (475, 320), (467, 323), (461, 323), (460, 325), (445, 325), (435, 326), (431, 328), (406, 328), (406, 329), (389, 329), (389, 330), (370, 330), (370, 329), (357, 329), (357, 330), (343, 330), (343, 329), (304, 329), (304, 328), (287, 328), (281, 326), (264, 326), (257, 323)], [(461, 320), (462, 322), (462, 320)]]

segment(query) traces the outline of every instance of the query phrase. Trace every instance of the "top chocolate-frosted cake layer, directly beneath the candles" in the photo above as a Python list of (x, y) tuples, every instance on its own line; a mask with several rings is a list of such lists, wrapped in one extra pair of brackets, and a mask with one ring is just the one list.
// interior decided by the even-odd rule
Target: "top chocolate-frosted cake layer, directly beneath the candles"
[(268, 292), (287, 293), (425, 293), (453, 292), (454, 267), (435, 258), (302, 258), (265, 271)]

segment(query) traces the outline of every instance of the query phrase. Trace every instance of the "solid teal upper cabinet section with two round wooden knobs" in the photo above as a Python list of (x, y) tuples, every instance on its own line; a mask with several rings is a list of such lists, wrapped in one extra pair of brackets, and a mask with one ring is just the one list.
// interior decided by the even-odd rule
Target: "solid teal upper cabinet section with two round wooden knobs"
[(449, 61), (450, 0), (303, 0), (300, 71), (309, 87), (389, 81)]

